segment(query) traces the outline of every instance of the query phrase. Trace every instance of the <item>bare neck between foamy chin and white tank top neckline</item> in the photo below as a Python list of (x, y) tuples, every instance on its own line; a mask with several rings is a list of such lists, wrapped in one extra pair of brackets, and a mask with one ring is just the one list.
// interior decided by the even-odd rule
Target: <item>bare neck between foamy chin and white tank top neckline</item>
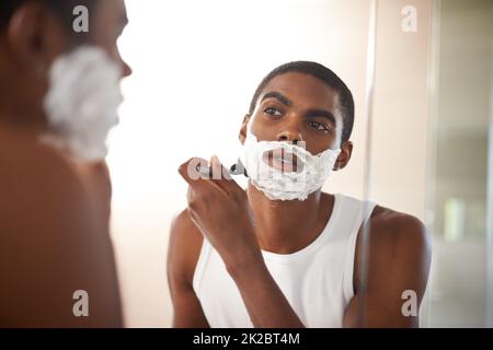
[(249, 201), (262, 249), (290, 254), (313, 242), (332, 212), (333, 196), (318, 190), (303, 201), (270, 200), (249, 184)]

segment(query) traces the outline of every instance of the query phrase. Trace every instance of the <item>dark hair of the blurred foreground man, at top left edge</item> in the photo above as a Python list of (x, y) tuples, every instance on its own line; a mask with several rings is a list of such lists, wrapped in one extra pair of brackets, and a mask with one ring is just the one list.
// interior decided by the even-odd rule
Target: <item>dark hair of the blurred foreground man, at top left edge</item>
[(39, 1), (49, 7), (64, 25), (69, 27), (72, 24), (73, 9), (77, 5), (85, 5), (91, 9), (98, 0), (0, 0), (0, 32), (5, 30), (15, 10), (31, 1)]

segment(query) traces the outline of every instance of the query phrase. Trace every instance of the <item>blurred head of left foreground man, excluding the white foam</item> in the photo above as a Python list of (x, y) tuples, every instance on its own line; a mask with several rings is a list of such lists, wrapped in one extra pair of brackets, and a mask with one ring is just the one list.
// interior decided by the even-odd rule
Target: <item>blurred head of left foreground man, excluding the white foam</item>
[[(88, 9), (89, 33), (73, 26), (80, 5)], [(1, 0), (0, 92), (7, 98), (0, 115), (42, 119), (51, 63), (82, 44), (101, 47), (123, 77), (130, 74), (117, 49), (126, 22), (124, 0)]]

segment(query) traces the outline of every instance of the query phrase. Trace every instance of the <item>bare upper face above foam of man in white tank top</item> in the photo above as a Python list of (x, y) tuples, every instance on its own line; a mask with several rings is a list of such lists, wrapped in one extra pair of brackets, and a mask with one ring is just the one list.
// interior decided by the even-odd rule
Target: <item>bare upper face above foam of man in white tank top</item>
[(289, 72), (275, 77), (259, 96), (250, 118), (259, 141), (306, 142), (318, 154), (341, 143), (337, 93), (314, 77)]

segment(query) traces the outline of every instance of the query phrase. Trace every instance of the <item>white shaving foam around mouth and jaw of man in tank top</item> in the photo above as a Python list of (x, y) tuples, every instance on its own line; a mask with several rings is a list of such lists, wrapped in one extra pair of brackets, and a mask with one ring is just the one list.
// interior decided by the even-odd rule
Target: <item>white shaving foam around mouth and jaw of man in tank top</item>
[[(250, 180), (271, 200), (305, 200), (323, 186), (330, 177), (341, 150), (325, 150), (317, 155), (303, 147), (279, 141), (259, 141), (251, 132), (252, 120), (246, 126), (243, 164)], [(296, 171), (286, 172), (270, 166), (265, 153), (280, 150), (294, 154), (298, 160)], [(284, 153), (286, 154), (286, 153)], [(299, 165), (302, 166), (299, 166)]]

